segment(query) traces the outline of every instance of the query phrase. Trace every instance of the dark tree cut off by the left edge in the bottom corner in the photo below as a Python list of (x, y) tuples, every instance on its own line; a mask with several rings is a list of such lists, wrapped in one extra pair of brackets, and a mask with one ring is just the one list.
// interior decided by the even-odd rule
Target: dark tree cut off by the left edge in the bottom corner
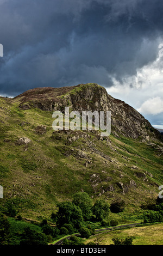
[(8, 245), (10, 236), (10, 223), (7, 217), (0, 215), (0, 245)]

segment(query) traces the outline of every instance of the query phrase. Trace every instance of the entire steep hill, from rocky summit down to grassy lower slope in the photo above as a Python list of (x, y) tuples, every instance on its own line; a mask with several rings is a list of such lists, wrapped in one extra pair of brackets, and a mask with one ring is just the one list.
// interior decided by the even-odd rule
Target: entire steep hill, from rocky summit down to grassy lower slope
[[(53, 131), (52, 113), (111, 111), (111, 135)], [(14, 99), (0, 97), (0, 185), (25, 217), (50, 216), (61, 200), (85, 191), (92, 199), (126, 201), (134, 211), (162, 185), (161, 135), (126, 103), (97, 84), (36, 88)]]

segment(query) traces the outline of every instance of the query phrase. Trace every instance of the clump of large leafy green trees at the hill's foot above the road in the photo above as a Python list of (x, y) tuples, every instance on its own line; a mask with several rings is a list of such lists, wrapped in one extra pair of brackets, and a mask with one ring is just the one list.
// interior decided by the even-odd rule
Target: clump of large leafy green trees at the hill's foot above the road
[(58, 212), (52, 213), (51, 218), (59, 229), (67, 223), (79, 230), (83, 221), (89, 221), (93, 216), (96, 221), (102, 221), (110, 212), (109, 204), (103, 199), (96, 200), (92, 205), (92, 199), (86, 192), (78, 192), (72, 202), (62, 202), (57, 206)]

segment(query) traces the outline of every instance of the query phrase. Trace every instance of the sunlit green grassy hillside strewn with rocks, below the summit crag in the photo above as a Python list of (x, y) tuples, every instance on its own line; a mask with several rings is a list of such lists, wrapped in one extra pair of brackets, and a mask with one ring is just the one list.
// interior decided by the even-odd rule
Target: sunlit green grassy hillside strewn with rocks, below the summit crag
[(163, 182), (161, 142), (121, 134), (101, 139), (95, 131), (54, 132), (52, 111), (19, 104), (0, 97), (2, 211), (10, 200), (23, 217), (41, 220), (58, 202), (85, 191), (93, 200), (124, 199), (128, 216), (156, 199)]

